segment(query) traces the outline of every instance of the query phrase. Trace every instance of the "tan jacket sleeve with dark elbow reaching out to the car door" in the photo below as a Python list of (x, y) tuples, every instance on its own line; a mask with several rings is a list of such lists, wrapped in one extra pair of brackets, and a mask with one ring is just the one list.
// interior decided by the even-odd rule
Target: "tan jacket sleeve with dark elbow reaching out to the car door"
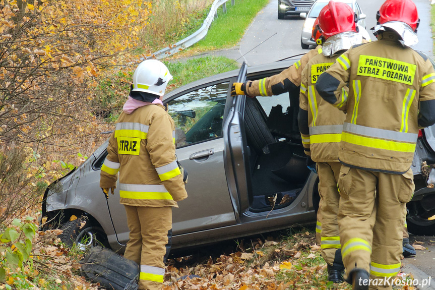
[(322, 53), (322, 46), (304, 54), (299, 61), (281, 73), (261, 80), (246, 82), (246, 95), (248, 96), (273, 96), (290, 91), (292, 87), (300, 86), (300, 76), (303, 68), (314, 56)]

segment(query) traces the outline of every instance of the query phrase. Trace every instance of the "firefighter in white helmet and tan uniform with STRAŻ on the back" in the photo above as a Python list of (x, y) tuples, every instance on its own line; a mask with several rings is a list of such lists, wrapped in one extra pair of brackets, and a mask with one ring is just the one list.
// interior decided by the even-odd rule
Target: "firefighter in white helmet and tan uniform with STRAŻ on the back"
[(172, 236), (171, 208), (187, 198), (183, 170), (175, 157), (174, 122), (162, 103), (171, 79), (159, 61), (138, 66), (101, 167), (100, 187), (106, 196), (109, 191), (113, 194), (119, 171), (120, 203), (130, 229), (124, 256), (140, 265), (142, 290), (163, 286)]

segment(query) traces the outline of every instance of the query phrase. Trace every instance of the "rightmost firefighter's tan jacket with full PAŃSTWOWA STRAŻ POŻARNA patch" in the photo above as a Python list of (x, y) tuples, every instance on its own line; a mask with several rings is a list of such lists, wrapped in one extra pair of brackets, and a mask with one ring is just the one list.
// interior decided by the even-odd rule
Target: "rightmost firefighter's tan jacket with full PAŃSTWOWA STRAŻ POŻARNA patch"
[[(419, 127), (435, 123), (435, 72), (393, 32), (355, 45), (316, 84), (326, 101), (347, 111), (339, 159), (367, 170), (403, 174), (411, 166)], [(349, 94), (342, 88), (348, 83)]]

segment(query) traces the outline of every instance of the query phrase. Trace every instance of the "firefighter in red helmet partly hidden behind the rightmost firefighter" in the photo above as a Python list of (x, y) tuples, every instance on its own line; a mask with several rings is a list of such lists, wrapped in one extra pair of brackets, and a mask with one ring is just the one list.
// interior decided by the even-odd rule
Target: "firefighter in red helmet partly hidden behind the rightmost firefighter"
[[(337, 181), (341, 168), (338, 146), (346, 114), (323, 100), (315, 85), (319, 76), (341, 53), (362, 42), (355, 20), (354, 12), (345, 3), (331, 1), (321, 10), (313, 28), (313, 37), (323, 45), (322, 53), (308, 62), (302, 71), (300, 84), (299, 131), (308, 158), (317, 163), (322, 257), (328, 265), (328, 280), (333, 282), (343, 281), (344, 271), (337, 223), (340, 199)], [(342, 94), (348, 94), (347, 87), (343, 88)]]

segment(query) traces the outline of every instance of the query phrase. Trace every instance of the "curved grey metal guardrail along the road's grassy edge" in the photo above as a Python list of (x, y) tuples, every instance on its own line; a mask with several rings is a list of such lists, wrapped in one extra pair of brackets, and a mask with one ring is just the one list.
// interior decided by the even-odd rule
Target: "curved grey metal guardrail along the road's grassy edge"
[[(203, 39), (207, 35), (207, 32), (208, 32), (209, 28), (211, 27), (211, 24), (212, 24), (214, 18), (218, 16), (217, 9), (221, 5), (223, 5), (223, 12), (226, 13), (226, 3), (228, 1), (229, 0), (215, 0), (215, 2), (213, 2), (213, 4), (212, 4), (212, 7), (210, 9), (210, 12), (209, 12), (207, 18), (204, 20), (204, 24), (201, 26), (200, 29), (198, 29), (194, 34), (178, 41), (177, 43), (172, 44), (168, 47), (165, 47), (163, 49), (160, 49), (159, 51), (154, 52), (150, 56), (147, 56), (146, 59), (147, 60), (164, 59), (165, 57), (168, 57), (170, 55), (173, 55), (174, 53), (177, 53), (178, 51), (181, 51), (185, 48), (188, 48), (189, 46), (191, 46), (191, 45), (197, 43), (198, 41), (200, 41), (201, 39)], [(234, 6), (234, 0), (231, 0), (231, 5)]]

